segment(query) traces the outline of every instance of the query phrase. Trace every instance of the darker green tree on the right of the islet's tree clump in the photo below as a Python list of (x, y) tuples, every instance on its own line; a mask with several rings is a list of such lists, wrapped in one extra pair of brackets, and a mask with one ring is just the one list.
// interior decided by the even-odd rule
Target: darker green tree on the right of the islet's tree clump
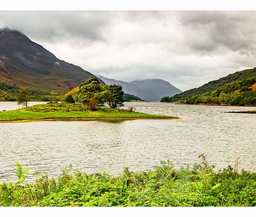
[(111, 108), (123, 106), (123, 91), (122, 86), (110, 84), (103, 86), (103, 91), (96, 95), (100, 102), (108, 104)]

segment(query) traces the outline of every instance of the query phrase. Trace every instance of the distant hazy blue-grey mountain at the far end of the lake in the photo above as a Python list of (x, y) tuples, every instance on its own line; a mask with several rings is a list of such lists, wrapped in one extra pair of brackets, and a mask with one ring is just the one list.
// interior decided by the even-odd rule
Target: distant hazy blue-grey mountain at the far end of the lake
[(105, 78), (97, 75), (106, 84), (119, 84), (124, 93), (135, 95), (146, 101), (160, 101), (163, 96), (174, 96), (182, 91), (175, 88), (172, 84), (161, 79), (145, 79), (124, 82), (115, 79)]

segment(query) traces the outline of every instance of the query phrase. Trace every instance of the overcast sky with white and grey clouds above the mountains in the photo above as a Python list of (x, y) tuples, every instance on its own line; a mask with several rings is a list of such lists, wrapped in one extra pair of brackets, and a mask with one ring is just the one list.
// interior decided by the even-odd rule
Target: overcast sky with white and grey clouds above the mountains
[(255, 11), (1, 11), (57, 58), (124, 81), (182, 91), (256, 67)]

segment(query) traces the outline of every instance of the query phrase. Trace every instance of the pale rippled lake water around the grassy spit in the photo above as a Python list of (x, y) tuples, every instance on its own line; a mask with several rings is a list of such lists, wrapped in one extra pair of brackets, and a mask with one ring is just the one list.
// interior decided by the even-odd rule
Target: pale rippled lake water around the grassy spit
[[(6, 103), (0, 102), (0, 111)], [(255, 107), (125, 103), (129, 106), (182, 119), (0, 123), (0, 181), (16, 180), (17, 159), (32, 169), (29, 181), (35, 171), (57, 176), (69, 164), (117, 175), (126, 166), (146, 170), (169, 158), (180, 168), (192, 166), (202, 153), (217, 170), (233, 166), (238, 156), (240, 169), (256, 171), (256, 115), (224, 113)]]

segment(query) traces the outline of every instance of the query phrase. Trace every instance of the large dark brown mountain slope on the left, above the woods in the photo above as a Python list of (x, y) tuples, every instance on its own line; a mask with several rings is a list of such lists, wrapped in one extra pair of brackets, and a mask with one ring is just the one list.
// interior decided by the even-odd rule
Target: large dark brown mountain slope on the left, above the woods
[(22, 32), (0, 29), (1, 82), (63, 93), (91, 76), (90, 72), (58, 59)]

